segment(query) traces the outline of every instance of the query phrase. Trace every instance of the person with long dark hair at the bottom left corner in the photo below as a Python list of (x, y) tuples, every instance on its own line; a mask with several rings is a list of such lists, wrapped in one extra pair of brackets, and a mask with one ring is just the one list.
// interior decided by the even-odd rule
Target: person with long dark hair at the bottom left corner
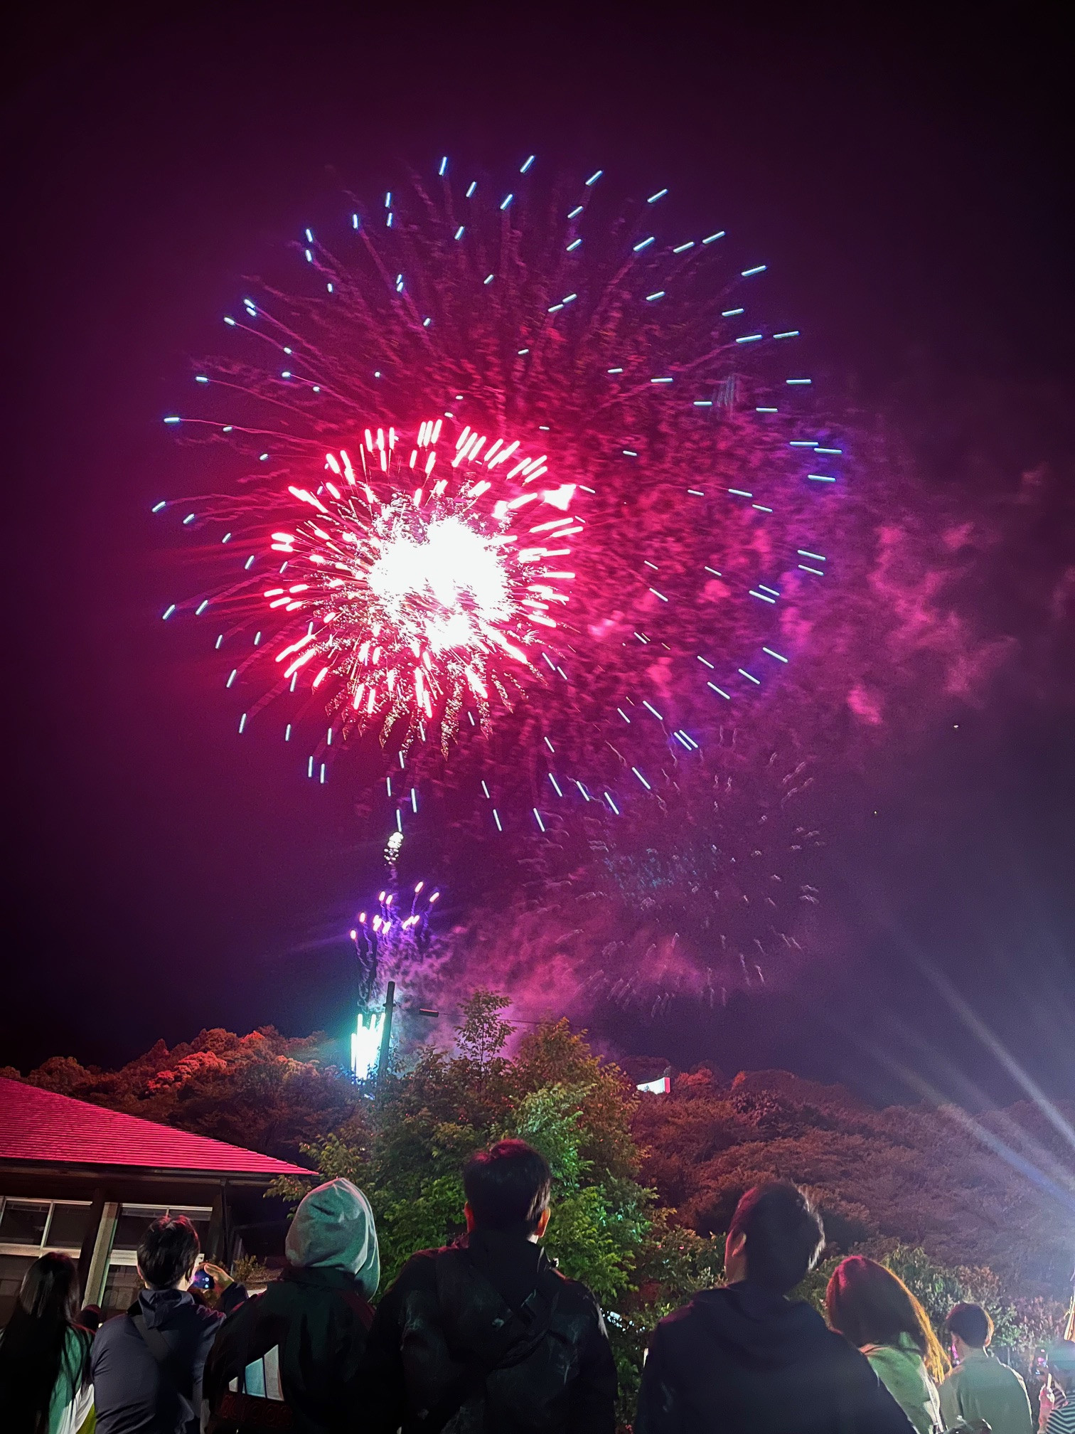
[(93, 1408), (92, 1335), (79, 1319), (79, 1272), (67, 1255), (42, 1255), (23, 1275), (0, 1332), (4, 1434), (77, 1434)]

